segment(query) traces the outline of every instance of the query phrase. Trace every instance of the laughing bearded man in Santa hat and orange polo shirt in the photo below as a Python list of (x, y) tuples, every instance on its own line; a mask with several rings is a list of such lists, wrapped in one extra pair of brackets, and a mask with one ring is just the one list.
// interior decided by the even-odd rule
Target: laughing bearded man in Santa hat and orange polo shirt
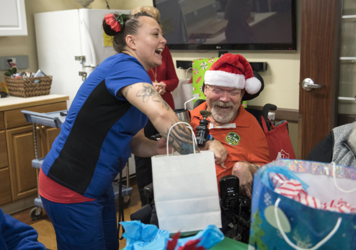
[[(236, 175), (240, 179), (241, 192), (251, 198), (252, 176), (270, 159), (266, 136), (256, 118), (242, 107), (241, 101), (254, 98), (261, 89), (261, 82), (253, 76), (244, 57), (231, 54), (221, 56), (206, 71), (204, 82), (206, 102), (192, 110), (191, 125), (196, 132), (203, 119), (200, 111), (211, 112), (206, 120), (209, 121), (210, 135), (218, 141), (214, 146), (221, 145), (228, 152), (225, 160), (216, 162), (217, 180), (225, 175)], [(211, 143), (208, 146), (214, 148)], [(223, 150), (214, 150), (214, 153), (216, 151)]]

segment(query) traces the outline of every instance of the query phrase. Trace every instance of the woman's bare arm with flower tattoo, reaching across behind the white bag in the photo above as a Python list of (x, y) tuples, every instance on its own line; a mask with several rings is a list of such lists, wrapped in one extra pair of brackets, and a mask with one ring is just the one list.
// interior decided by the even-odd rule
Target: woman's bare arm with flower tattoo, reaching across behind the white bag
[[(148, 116), (153, 126), (167, 139), (169, 128), (180, 120), (158, 94), (155, 87), (149, 83), (140, 82), (121, 88), (120, 91), (132, 105)], [(180, 154), (193, 153), (190, 129), (185, 124), (174, 126), (169, 134), (169, 144)], [(196, 145), (195, 148), (198, 151)]]

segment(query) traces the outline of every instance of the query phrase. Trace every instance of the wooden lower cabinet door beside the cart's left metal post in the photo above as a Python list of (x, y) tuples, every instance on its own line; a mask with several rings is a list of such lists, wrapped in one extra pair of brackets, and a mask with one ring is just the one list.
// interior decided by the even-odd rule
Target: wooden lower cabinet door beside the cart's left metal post
[[(9, 154), (12, 201), (36, 194), (36, 168), (31, 166), (31, 161), (35, 159), (32, 125), (6, 130), (6, 143)], [(39, 151), (40, 148), (38, 147)]]

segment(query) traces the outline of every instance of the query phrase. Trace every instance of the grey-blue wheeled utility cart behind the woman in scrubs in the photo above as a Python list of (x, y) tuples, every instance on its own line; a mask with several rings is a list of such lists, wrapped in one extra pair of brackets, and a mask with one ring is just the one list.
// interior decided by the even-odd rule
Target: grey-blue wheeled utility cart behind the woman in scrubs
[[(40, 193), (38, 192), (38, 171), (41, 168), (43, 163), (43, 158), (38, 158), (38, 144), (37, 144), (37, 124), (56, 127), (57, 129), (61, 128), (61, 125), (66, 120), (68, 110), (61, 110), (56, 112), (49, 113), (38, 113), (28, 110), (22, 110), (21, 113), (25, 115), (27, 122), (33, 124), (33, 141), (35, 142), (35, 157), (36, 159), (32, 160), (32, 167), (36, 168), (37, 176), (37, 198), (35, 198), (35, 207), (32, 208), (30, 212), (31, 219), (37, 220), (42, 217), (42, 201)], [(126, 185), (122, 185), (122, 196), (124, 196), (124, 207), (129, 206), (130, 204), (130, 195), (132, 194), (132, 188), (129, 187), (129, 163), (126, 164)], [(115, 199), (119, 198), (119, 183), (113, 182), (112, 187), (114, 188)]]

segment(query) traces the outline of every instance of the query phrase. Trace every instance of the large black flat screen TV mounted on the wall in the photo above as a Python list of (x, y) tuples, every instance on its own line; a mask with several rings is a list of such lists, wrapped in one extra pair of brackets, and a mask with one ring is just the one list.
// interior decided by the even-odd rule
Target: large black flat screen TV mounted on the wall
[(153, 0), (171, 50), (296, 50), (295, 0)]

